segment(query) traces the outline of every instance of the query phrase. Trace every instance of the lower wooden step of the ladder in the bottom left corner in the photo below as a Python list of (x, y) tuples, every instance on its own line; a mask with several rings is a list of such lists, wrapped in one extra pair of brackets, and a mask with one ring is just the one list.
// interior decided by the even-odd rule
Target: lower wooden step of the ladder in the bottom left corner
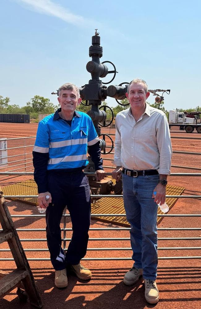
[(12, 291), (15, 286), (28, 275), (24, 268), (17, 268), (0, 280), (0, 298)]

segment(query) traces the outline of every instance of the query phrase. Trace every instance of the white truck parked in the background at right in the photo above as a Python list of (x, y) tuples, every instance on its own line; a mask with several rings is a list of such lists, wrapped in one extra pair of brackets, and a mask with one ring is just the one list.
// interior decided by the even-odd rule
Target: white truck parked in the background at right
[(201, 133), (201, 119), (199, 118), (201, 112), (179, 112), (176, 110), (169, 111), (168, 123), (169, 128), (179, 126), (180, 130), (186, 130), (187, 133), (192, 133), (194, 129)]

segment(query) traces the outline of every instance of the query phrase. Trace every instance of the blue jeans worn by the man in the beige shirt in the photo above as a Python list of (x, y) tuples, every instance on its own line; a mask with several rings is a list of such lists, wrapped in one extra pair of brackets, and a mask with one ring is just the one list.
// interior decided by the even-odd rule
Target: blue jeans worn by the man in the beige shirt
[(157, 210), (152, 199), (159, 175), (130, 177), (122, 175), (126, 218), (130, 223), (130, 243), (134, 266), (143, 269), (143, 278), (156, 280)]

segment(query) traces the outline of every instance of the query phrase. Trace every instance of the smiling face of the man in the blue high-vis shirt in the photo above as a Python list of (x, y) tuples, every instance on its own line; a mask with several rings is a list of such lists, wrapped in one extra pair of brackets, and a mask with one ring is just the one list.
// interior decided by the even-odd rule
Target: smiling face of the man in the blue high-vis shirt
[(82, 101), (81, 98), (78, 99), (78, 95), (75, 89), (72, 90), (62, 90), (58, 97), (59, 104), (61, 105), (63, 112), (74, 112), (76, 107)]

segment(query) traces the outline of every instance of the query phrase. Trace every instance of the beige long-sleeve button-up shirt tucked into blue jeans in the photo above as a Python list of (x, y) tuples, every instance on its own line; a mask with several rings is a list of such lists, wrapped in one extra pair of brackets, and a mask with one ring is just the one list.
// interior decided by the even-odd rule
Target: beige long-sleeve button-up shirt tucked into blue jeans
[(144, 114), (135, 122), (131, 109), (119, 112), (115, 120), (114, 161), (130, 170), (156, 169), (169, 175), (172, 145), (165, 113), (146, 103)]

